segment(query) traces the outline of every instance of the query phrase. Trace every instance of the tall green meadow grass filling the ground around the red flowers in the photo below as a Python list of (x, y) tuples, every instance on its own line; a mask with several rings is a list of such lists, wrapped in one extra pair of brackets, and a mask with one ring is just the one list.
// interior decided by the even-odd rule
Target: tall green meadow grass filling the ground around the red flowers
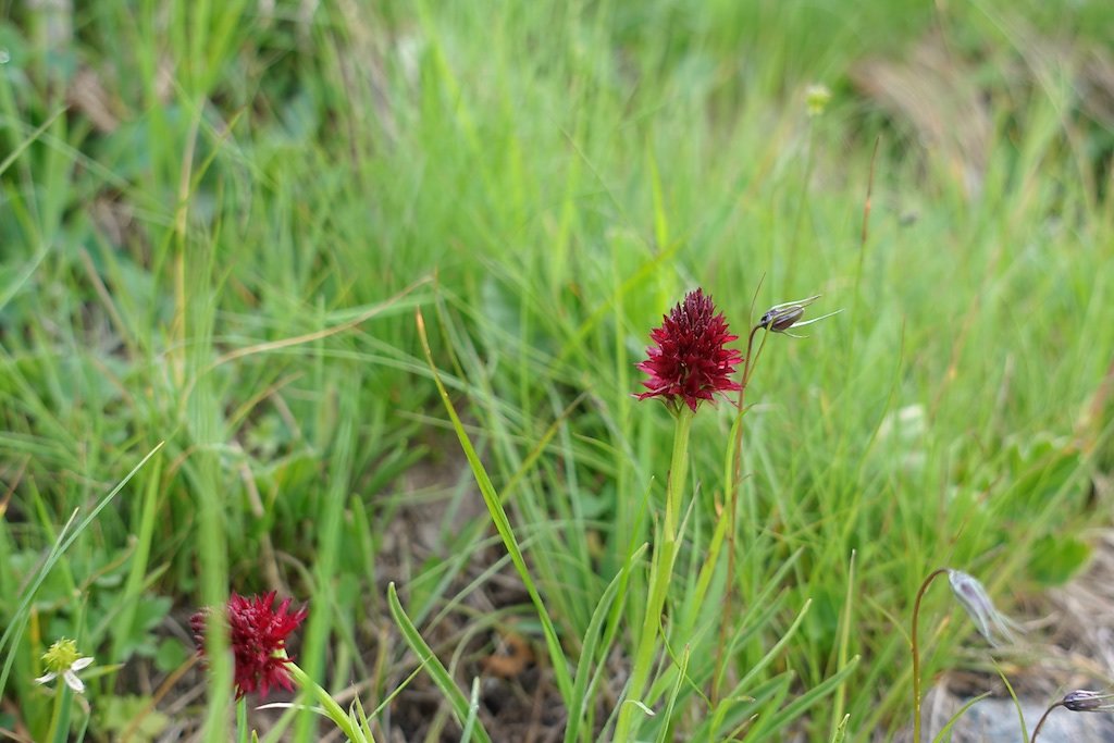
[[(569, 740), (606, 735), (672, 430), (631, 398), (634, 364), (696, 285), (736, 330), (755, 293), (844, 311), (776, 339), (747, 391), (731, 694), (714, 710), (726, 556), (706, 557), (736, 416), (694, 423), (643, 731), (906, 724), (901, 627), (924, 575), (980, 575), (1008, 606), (1077, 568), (1081, 528), (1105, 518), (1088, 476), (1114, 460), (1093, 405), (1114, 352), (1114, 139), (1079, 80), (1114, 18), (1023, 4), (104, 0), (75, 3), (68, 30), (11, 7), (2, 625), (29, 613), (4, 646), (0, 727), (45, 734), (32, 678), (59, 636), (102, 669), (90, 736), (119, 730), (115, 710), (169, 708), (152, 690), (192, 652), (183, 617), (277, 588), (311, 606), (300, 666), (365, 710), (417, 663), (401, 615), (460, 686), (446, 735), (483, 724), (444, 715), (470, 714), (477, 658), (511, 630), (543, 673), (565, 665)], [(989, 101), (974, 187), (851, 82), (934, 33)], [(810, 119), (815, 81), (834, 99)], [(33, 579), (74, 509), (164, 440)], [(537, 604), (478, 613), (496, 575)], [(964, 629), (922, 633), (926, 673), (956, 663)], [(232, 696), (218, 651), (186, 703), (211, 741)], [(316, 740), (315, 724), (291, 711), (276, 730)]]

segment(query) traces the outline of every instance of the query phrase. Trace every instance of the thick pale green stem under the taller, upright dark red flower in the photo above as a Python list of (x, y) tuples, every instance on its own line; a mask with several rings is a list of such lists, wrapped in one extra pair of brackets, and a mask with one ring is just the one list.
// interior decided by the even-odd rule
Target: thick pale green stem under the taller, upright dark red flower
[[(631, 685), (627, 687), (619, 720), (615, 726), (616, 741), (631, 741), (638, 725), (634, 724), (635, 704), (642, 703), (642, 695), (649, 681), (649, 672), (654, 667), (654, 651), (657, 648), (658, 627), (662, 623), (662, 612), (665, 609), (665, 598), (670, 593), (670, 579), (673, 577), (673, 561), (677, 555), (677, 529), (681, 524), (682, 496), (685, 479), (688, 477), (688, 436), (695, 413), (686, 405), (678, 405), (676, 428), (673, 433), (673, 457), (670, 461), (670, 475), (665, 485), (665, 519), (662, 527), (662, 544), (654, 549), (654, 561), (649, 569), (649, 599), (646, 614), (642, 622), (642, 634), (638, 637), (638, 648), (635, 652), (634, 665), (631, 669)], [(664, 633), (663, 633), (664, 634)], [(638, 712), (639, 714), (641, 711)], [(633, 726), (632, 726), (633, 725)]]

